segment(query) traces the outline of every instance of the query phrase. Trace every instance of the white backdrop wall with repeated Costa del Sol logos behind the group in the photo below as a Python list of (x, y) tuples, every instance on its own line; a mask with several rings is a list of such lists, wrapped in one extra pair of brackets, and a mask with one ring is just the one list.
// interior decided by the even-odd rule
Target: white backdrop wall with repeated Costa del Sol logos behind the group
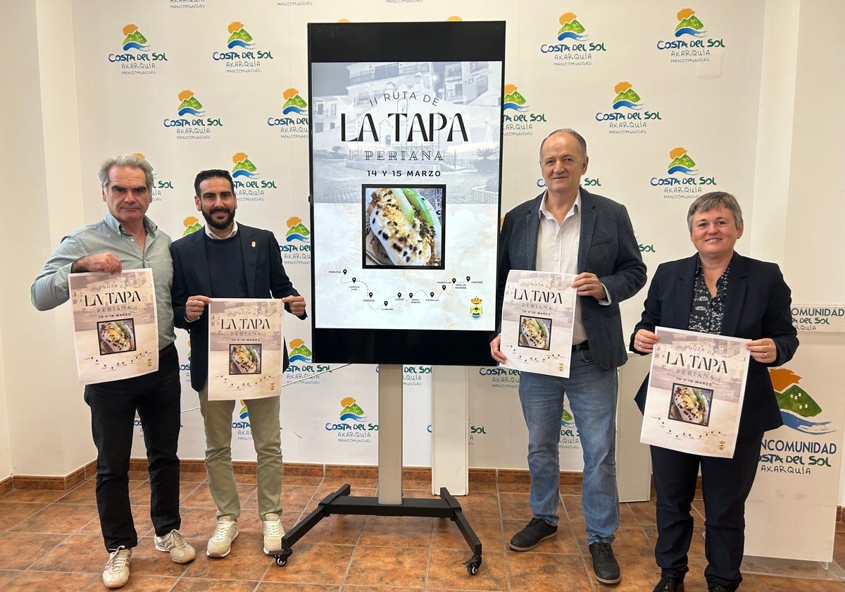
[[(155, 173), (149, 216), (172, 238), (201, 226), (196, 173), (226, 168), (235, 175), (237, 219), (275, 233), (286, 272), (308, 303), (308, 123), (331, 116), (330, 101), (309, 101), (309, 22), (504, 20), (502, 176), (477, 189), (500, 189), (503, 215), (542, 191), (540, 141), (569, 127), (587, 141), (582, 183), (628, 208), (650, 270), (690, 253), (685, 212), (708, 190), (737, 195), (751, 231), (763, 0), (653, 0), (647, 10), (623, 0), (565, 6), (549, 0), (88, 0), (74, 2), (73, 11), (85, 219), (102, 217), (95, 172), (106, 156), (137, 152), (149, 160)], [(484, 167), (487, 156), (466, 158)], [(624, 326), (639, 319), (644, 296), (621, 303)], [(378, 430), (369, 425), (378, 417), (375, 367), (313, 364), (311, 321), (288, 320), (292, 364), (281, 391), (286, 461), (377, 463)], [(183, 409), (194, 409), (183, 414), (179, 453), (203, 458), (197, 397), (187, 381), (190, 346), (184, 332), (178, 335)], [(316, 375), (323, 370), (331, 372)], [(492, 359), (488, 370), (498, 370)], [(518, 375), (504, 372), (470, 373), (472, 467), (526, 467)], [(412, 381), (414, 375), (405, 372), (405, 458), (424, 465), (430, 463), (430, 387), (428, 376)], [(232, 423), (248, 423), (238, 402), (235, 407)], [(356, 417), (341, 419), (346, 413)], [(575, 425), (566, 418), (561, 468), (580, 470)], [(343, 424), (357, 429), (332, 427)], [(233, 430), (244, 431), (233, 439), (233, 457), (253, 459), (246, 428)], [(133, 453), (143, 454), (143, 445), (136, 442)]]

